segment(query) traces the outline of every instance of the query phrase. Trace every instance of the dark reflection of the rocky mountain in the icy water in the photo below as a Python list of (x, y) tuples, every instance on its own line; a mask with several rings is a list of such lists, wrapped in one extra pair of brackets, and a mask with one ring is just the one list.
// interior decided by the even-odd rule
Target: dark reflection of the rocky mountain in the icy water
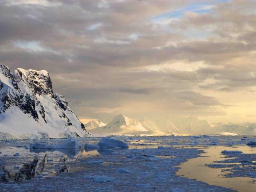
[[(2, 148), (3, 154), (0, 160), (0, 182), (21, 182), (34, 177), (54, 176), (59, 172), (73, 172), (78, 170), (73, 164), (76, 160), (86, 157), (100, 155), (96, 150), (85, 151), (84, 148), (58, 148), (29, 149), (24, 148)], [(13, 154), (18, 152), (20, 157), (15, 158)], [(27, 163), (22, 163), (26, 161)], [(85, 169), (80, 167), (81, 169)]]

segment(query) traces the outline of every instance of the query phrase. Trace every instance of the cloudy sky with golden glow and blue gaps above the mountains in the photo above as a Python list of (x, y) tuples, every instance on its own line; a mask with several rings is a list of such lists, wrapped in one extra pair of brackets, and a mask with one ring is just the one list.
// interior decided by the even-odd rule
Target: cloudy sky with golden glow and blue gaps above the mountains
[(256, 0), (0, 0), (0, 63), (79, 118), (256, 122)]

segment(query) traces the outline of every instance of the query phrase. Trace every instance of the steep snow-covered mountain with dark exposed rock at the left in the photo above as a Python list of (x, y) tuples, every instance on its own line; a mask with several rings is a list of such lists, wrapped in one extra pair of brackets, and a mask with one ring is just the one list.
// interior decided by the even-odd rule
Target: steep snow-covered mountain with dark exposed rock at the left
[(0, 65), (0, 140), (89, 137), (45, 70)]

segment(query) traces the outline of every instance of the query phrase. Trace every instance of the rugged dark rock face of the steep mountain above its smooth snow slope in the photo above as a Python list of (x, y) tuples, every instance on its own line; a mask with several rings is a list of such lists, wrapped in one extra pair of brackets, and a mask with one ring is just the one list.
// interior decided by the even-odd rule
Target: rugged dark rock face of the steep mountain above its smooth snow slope
[(0, 104), (0, 114), (15, 106), (37, 122), (43, 120), (49, 123), (49, 118), (54, 118), (56, 113), (58, 118), (63, 119), (61, 121), (65, 122), (65, 126), (72, 127), (75, 121), (76, 126), (79, 125), (85, 135), (90, 135), (73, 114), (64, 96), (60, 93), (53, 93), (52, 81), (45, 70), (18, 68), (10, 73), (7, 66), (0, 65)]

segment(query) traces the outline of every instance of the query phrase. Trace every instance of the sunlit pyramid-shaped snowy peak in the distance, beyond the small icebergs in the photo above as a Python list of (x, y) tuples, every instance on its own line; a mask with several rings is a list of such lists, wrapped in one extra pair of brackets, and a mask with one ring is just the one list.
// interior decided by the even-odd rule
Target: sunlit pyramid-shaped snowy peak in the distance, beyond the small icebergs
[(131, 119), (127, 116), (119, 114), (111, 122), (104, 127), (99, 127), (90, 130), (91, 133), (105, 135), (151, 135), (161, 136), (167, 135), (157, 129), (147, 129), (143, 127), (140, 121)]

